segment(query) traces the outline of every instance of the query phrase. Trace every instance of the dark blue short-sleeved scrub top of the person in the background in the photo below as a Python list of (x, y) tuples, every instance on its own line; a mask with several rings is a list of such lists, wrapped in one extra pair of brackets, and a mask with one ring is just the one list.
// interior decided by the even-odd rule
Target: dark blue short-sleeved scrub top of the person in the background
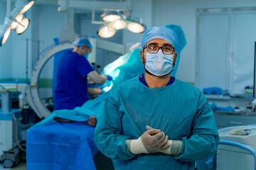
[(87, 74), (94, 69), (82, 55), (68, 51), (58, 64), (54, 110), (73, 109), (89, 99)]

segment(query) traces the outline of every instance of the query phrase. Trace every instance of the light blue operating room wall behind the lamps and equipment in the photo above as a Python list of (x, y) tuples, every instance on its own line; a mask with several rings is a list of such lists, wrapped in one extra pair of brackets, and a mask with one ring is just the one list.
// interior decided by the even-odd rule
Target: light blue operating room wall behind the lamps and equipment
[[(169, 23), (179, 25), (183, 28), (187, 45), (181, 52), (181, 61), (176, 77), (183, 81), (194, 82), (196, 70), (196, 10), (198, 8), (230, 8), (256, 6), (255, 0), (132, 0), (132, 16), (142, 18), (147, 28), (151, 26), (164, 26)], [(6, 3), (0, 1), (0, 22), (3, 23), (6, 15)], [(48, 45), (53, 44), (53, 38), (58, 37), (60, 28), (65, 28), (65, 13), (57, 11), (57, 4), (35, 5), (26, 14), (31, 18), (31, 26), (26, 33), (16, 35), (11, 31), (10, 39), (3, 47), (0, 47), (0, 79), (5, 78), (25, 78), (26, 77), (26, 38), (30, 39), (29, 44), (29, 64), (31, 70), (33, 60), (39, 51)], [(81, 22), (80, 27), (85, 27), (90, 18)], [(100, 25), (94, 25), (93, 29)], [(80, 30), (86, 34), (89, 30)], [(96, 31), (95, 31), (96, 32)], [(95, 34), (94, 32), (94, 34)], [(129, 30), (119, 31), (116, 42), (141, 42), (143, 34), (130, 33)], [(19, 40), (18, 40), (18, 39)], [(38, 40), (40, 45), (38, 48)], [(115, 41), (115, 40), (113, 40)], [(99, 53), (100, 54), (100, 53)], [(105, 55), (105, 54), (104, 54)], [(106, 54), (107, 55), (107, 54)], [(112, 56), (112, 55), (110, 55)], [(117, 55), (118, 56), (118, 55)], [(102, 57), (98, 60), (102, 67), (117, 58)], [(47, 67), (47, 66), (46, 66)], [(48, 68), (49, 69), (49, 68)], [(29, 73), (30, 74), (30, 73)], [(45, 77), (49, 77), (46, 73)], [(28, 76), (30, 77), (30, 75)]]

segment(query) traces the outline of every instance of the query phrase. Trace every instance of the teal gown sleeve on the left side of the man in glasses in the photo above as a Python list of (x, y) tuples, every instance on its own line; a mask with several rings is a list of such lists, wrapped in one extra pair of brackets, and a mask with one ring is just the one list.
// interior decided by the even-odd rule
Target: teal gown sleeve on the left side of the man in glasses
[(114, 88), (105, 101), (104, 111), (95, 129), (95, 144), (97, 148), (111, 159), (127, 160), (135, 157), (126, 149), (125, 136), (122, 130), (122, 113), (119, 113), (119, 96)]

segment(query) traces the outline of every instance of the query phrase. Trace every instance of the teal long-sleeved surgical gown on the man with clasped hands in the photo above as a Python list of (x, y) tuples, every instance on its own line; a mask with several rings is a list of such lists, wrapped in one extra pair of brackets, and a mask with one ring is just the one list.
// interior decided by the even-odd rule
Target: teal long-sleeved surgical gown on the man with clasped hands
[[(181, 152), (131, 154), (125, 141), (138, 139), (146, 125), (160, 129), (170, 140), (182, 140)], [(218, 147), (213, 112), (200, 89), (176, 79), (151, 89), (139, 77), (118, 84), (105, 101), (95, 129), (95, 144), (115, 169), (194, 169), (194, 162), (213, 155)]]

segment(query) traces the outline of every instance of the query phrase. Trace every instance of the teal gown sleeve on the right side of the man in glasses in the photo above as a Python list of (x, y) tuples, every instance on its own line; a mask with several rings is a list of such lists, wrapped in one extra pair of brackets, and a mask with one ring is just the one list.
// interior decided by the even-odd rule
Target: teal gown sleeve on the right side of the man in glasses
[(189, 162), (210, 157), (217, 150), (219, 140), (213, 111), (201, 92), (198, 97), (197, 113), (193, 118), (191, 136), (182, 137), (183, 146), (175, 159)]

